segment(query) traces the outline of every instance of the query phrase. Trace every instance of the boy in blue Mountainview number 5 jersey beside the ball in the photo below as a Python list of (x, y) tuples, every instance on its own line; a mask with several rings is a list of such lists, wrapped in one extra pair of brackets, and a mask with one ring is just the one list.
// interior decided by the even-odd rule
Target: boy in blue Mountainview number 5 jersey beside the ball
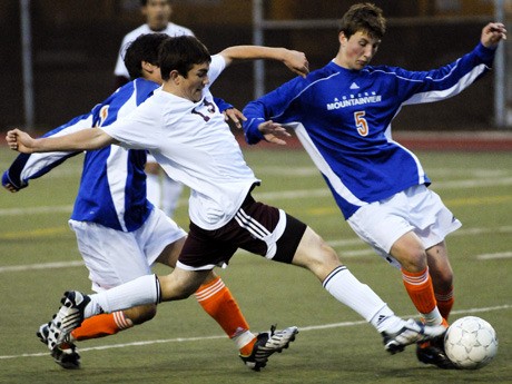
[[(322, 69), (296, 78), (244, 109), (246, 140), (285, 144), (295, 130), (355, 233), (401, 268), (426, 324), (447, 324), (453, 272), (444, 238), (461, 224), (426, 187), (420, 160), (393, 141), (402, 106), (446, 99), (491, 67), (504, 26), (489, 23), (477, 47), (440, 69), (413, 72), (370, 62), (385, 32), (382, 10), (351, 7), (341, 20), (339, 50)], [(452, 367), (442, 341), (416, 348), (426, 364)]]

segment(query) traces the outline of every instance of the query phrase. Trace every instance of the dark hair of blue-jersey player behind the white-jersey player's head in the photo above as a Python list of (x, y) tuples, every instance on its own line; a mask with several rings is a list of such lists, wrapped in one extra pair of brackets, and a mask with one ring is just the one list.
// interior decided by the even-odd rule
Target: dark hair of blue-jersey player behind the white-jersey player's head
[(142, 61), (158, 65), (158, 48), (166, 39), (169, 39), (166, 33), (147, 33), (129, 43), (125, 52), (125, 66), (131, 79), (142, 76)]

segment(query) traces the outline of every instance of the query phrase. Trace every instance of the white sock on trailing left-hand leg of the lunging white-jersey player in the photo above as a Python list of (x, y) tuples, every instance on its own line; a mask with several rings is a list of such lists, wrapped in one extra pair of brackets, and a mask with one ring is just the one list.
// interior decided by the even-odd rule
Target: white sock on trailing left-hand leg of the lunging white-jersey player
[(140, 276), (89, 297), (90, 303), (87, 304), (83, 313), (86, 318), (104, 312), (112, 313), (144, 304), (158, 304), (160, 283), (156, 275)]

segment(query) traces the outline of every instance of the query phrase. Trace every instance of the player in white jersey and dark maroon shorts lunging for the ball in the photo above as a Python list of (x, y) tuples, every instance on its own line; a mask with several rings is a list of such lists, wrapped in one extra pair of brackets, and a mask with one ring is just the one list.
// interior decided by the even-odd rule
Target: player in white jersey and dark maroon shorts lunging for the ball
[[(254, 49), (247, 46), (237, 57), (250, 57)], [(140, 277), (90, 296), (66, 293), (63, 305), (50, 323), (55, 343), (83, 317), (188, 297), (215, 266), (226, 265), (238, 248), (309, 269), (331, 295), (382, 333), (390, 353), (444, 334), (443, 326), (425, 326), (395, 316), (312, 228), (282, 209), (253, 199), (250, 191), (259, 179), (245, 163), (209, 92), (209, 85), (230, 63), (226, 56), (210, 57), (197, 39), (178, 37), (161, 46), (159, 62), (163, 88), (110, 127), (36, 140), (19, 129), (7, 134), (10, 148), (22, 152), (92, 149), (110, 144), (147, 148), (167, 174), (191, 189), (190, 232), (175, 270), (159, 278)], [(307, 61), (297, 69), (306, 72)]]

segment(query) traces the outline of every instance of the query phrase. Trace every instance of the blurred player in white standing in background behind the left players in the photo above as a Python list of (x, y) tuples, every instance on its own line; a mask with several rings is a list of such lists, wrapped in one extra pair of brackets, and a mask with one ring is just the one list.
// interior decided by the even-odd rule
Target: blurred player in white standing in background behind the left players
[[(161, 32), (171, 37), (194, 36), (190, 29), (170, 22), (173, 13), (170, 0), (140, 0), (140, 11), (146, 18), (146, 23), (134, 29), (122, 39), (116, 69), (114, 70), (116, 88), (130, 80), (124, 56), (127, 45), (140, 35)], [(168, 177), (151, 155), (148, 155), (146, 174), (148, 175), (146, 184), (149, 201), (161, 208), (167, 216), (173, 217), (184, 189), (183, 184)]]

